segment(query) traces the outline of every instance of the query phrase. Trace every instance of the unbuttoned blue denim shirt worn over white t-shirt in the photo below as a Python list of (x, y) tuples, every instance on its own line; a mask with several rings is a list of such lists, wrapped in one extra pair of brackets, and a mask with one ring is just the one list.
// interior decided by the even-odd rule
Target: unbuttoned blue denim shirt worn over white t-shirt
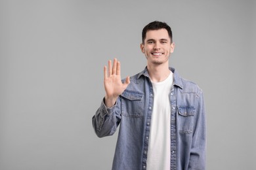
[[(173, 72), (171, 106), (171, 170), (205, 169), (205, 108), (202, 90)], [(112, 169), (146, 169), (154, 93), (148, 70), (131, 76), (131, 83), (108, 108), (102, 101), (93, 116), (98, 137), (113, 135), (119, 126)]]

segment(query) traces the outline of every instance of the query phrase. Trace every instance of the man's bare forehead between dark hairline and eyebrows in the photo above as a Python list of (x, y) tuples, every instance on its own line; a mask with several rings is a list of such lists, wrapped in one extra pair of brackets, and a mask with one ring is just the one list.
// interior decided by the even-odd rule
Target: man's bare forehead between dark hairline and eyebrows
[(146, 40), (147, 39), (154, 39), (154, 40), (167, 39), (170, 41), (170, 37), (169, 37), (168, 31), (166, 29), (146, 31)]

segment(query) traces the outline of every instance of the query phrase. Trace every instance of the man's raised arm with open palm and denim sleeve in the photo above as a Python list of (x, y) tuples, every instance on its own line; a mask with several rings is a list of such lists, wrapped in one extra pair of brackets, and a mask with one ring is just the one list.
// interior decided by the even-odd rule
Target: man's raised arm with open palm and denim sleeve
[(122, 83), (120, 73), (120, 62), (116, 58), (114, 59), (113, 67), (111, 60), (108, 61), (108, 68), (104, 66), (104, 88), (106, 95), (95, 116), (93, 116), (93, 127), (98, 137), (113, 135), (121, 120), (119, 95), (129, 85), (130, 78), (127, 76), (125, 83)]

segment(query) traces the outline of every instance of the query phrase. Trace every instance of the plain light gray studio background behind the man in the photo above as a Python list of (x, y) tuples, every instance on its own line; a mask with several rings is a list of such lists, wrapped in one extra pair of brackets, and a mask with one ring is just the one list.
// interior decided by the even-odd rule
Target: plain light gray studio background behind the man
[(203, 89), (207, 169), (256, 169), (255, 5), (0, 0), (0, 169), (110, 169), (117, 133), (99, 139), (91, 124), (103, 67), (142, 71), (154, 20), (173, 29), (171, 66)]

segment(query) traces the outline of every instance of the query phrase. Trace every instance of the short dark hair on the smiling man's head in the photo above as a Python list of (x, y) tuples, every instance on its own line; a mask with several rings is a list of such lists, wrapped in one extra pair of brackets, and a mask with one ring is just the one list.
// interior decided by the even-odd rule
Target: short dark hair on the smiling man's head
[(165, 22), (154, 21), (150, 22), (150, 24), (146, 25), (142, 30), (142, 43), (144, 44), (144, 40), (146, 39), (146, 32), (149, 30), (158, 30), (158, 29), (166, 29), (171, 42), (173, 42), (173, 33), (171, 32), (171, 27), (167, 25)]

